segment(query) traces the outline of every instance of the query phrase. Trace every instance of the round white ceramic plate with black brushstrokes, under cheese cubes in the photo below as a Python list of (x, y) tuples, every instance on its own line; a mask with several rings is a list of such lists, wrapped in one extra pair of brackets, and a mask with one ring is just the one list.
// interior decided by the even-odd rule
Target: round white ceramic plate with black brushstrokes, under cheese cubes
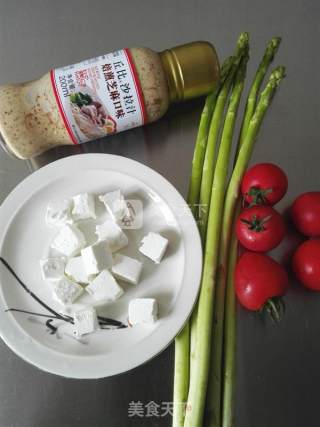
[[(127, 198), (143, 203), (143, 226), (126, 231), (130, 244), (121, 252), (139, 258), (144, 267), (139, 285), (121, 283), (126, 291), (124, 296), (115, 303), (99, 307), (99, 314), (127, 324), (128, 302), (132, 298), (155, 297), (159, 303), (159, 320), (151, 325), (100, 330), (81, 342), (64, 327), (65, 322), (54, 320), (59, 326), (58, 333), (50, 334), (46, 318), (5, 311), (17, 308), (50, 314), (0, 263), (1, 337), (19, 356), (45, 371), (74, 378), (100, 378), (128, 371), (168, 346), (195, 303), (202, 252), (192, 214), (166, 179), (124, 157), (71, 156), (25, 179), (0, 207), (1, 257), (33, 293), (59, 312), (61, 307), (52, 299), (39, 270), (39, 259), (49, 253), (55, 233), (44, 221), (48, 201), (79, 192), (100, 194), (117, 188)], [(90, 229), (90, 223), (87, 228)], [(170, 242), (159, 265), (138, 252), (139, 242), (148, 231), (159, 231)]]

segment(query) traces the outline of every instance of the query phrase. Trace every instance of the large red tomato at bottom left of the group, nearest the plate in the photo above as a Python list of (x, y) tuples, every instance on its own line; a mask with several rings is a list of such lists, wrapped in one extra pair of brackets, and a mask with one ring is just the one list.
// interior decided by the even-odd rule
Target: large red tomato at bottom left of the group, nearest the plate
[(272, 298), (284, 295), (289, 281), (285, 269), (272, 258), (245, 252), (235, 269), (235, 290), (240, 303), (249, 310), (261, 310)]

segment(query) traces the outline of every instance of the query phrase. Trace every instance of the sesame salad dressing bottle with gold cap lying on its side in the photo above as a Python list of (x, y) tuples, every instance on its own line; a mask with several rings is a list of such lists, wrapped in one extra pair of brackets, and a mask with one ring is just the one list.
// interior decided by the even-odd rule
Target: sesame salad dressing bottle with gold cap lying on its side
[(122, 49), (0, 86), (0, 143), (20, 159), (153, 122), (173, 102), (212, 91), (219, 62), (208, 42), (157, 53)]

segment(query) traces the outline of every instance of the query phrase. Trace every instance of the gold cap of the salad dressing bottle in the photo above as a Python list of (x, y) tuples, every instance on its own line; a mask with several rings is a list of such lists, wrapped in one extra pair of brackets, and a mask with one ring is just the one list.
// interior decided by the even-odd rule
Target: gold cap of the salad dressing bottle
[(212, 44), (193, 42), (160, 52), (170, 99), (180, 102), (206, 95), (220, 79), (220, 66)]

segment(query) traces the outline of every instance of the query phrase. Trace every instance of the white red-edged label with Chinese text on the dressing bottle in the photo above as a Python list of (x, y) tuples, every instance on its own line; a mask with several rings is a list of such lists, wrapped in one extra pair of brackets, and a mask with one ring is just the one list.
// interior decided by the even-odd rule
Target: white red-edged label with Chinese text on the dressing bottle
[(128, 49), (51, 70), (50, 76), (74, 144), (146, 122), (140, 82)]

